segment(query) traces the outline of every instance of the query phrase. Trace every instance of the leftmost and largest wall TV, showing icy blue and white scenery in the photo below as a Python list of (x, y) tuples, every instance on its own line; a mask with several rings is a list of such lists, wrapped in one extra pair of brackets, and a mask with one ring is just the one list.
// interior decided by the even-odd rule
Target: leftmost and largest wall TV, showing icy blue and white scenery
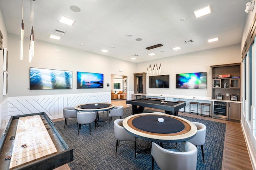
[(30, 90), (72, 89), (72, 71), (30, 67)]

